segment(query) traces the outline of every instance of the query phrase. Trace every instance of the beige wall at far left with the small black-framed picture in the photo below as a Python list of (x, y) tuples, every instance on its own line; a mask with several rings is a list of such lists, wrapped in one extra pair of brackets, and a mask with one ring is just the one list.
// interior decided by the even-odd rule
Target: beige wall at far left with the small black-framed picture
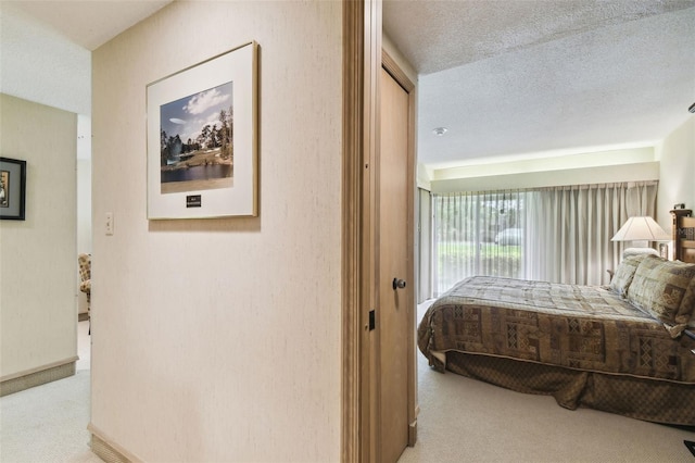
[(0, 95), (0, 154), (27, 161), (26, 220), (0, 221), (0, 379), (74, 361), (77, 116)]

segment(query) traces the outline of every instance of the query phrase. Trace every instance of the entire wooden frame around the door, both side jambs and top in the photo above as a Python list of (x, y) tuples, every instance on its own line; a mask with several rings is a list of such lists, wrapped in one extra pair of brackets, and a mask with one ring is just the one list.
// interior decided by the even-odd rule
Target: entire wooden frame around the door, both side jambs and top
[[(376, 338), (369, 330), (369, 311), (377, 306), (377, 165), (379, 152), (379, 79), (382, 65), (400, 82), (407, 79), (396, 63), (383, 58), (381, 0), (343, 0), (343, 161), (342, 161), (342, 313), (341, 313), (341, 461), (376, 461), (375, 375), (370, 367)], [(382, 64), (383, 63), (383, 64)], [(400, 82), (402, 86), (404, 83)], [(407, 85), (407, 84), (406, 84)], [(410, 88), (415, 86), (410, 83)], [(406, 88), (404, 86), (404, 88)], [(406, 88), (407, 90), (407, 88)], [(410, 138), (408, 172), (408, 248), (415, 249), (415, 91), (408, 91)], [(414, 265), (407, 280), (415, 283)], [(415, 312), (415, 291), (408, 302)], [(417, 437), (415, 316), (408, 361), (408, 443)]]

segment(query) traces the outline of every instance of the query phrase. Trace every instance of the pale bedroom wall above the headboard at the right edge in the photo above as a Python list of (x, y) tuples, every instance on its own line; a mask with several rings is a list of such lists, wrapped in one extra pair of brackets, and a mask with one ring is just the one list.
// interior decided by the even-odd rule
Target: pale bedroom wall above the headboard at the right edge
[(695, 210), (695, 115), (657, 147), (657, 159), (661, 165), (657, 222), (670, 233), (673, 204), (683, 202)]

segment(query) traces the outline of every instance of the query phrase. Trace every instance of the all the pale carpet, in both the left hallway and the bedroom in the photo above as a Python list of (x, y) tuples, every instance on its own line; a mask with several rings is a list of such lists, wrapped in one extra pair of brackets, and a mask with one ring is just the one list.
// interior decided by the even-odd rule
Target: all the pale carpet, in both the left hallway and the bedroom
[[(75, 376), (0, 399), (0, 462), (101, 462), (89, 450), (89, 337), (83, 324)], [(565, 410), (552, 397), (433, 372), (419, 353), (418, 368), (418, 441), (400, 463), (695, 462), (683, 443), (695, 437), (692, 429)]]

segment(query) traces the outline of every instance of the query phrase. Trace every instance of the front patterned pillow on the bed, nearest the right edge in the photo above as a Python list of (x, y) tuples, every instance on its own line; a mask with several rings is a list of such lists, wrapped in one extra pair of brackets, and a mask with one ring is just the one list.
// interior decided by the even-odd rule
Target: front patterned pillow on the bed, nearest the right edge
[(634, 272), (628, 300), (664, 322), (677, 337), (687, 326), (695, 305), (695, 264), (647, 255)]

